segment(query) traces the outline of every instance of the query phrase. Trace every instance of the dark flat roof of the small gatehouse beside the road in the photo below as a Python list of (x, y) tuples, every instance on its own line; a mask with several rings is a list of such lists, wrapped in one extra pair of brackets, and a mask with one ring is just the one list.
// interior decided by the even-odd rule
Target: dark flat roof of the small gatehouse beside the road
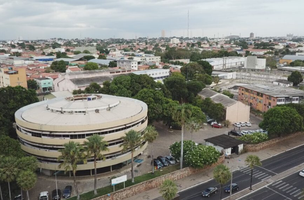
[(227, 148), (231, 148), (231, 147), (235, 147), (239, 144), (243, 144), (244, 142), (241, 141), (241, 140), (237, 140), (233, 137), (230, 137), (228, 135), (219, 135), (219, 136), (215, 136), (215, 137), (212, 137), (212, 138), (207, 138), (205, 139), (206, 142), (210, 142), (216, 146), (220, 146), (224, 149), (227, 149)]

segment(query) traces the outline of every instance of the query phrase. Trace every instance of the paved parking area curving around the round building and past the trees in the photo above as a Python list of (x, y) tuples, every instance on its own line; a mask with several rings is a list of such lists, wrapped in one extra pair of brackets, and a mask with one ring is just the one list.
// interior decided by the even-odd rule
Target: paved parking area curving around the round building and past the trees
[[(241, 127), (241, 130), (249, 130), (249, 129), (259, 129), (258, 124), (260, 123), (260, 119), (251, 115), (250, 122), (252, 124), (251, 127)], [(178, 142), (181, 140), (181, 131), (180, 130), (169, 130), (168, 127), (164, 126), (162, 123), (155, 123), (154, 126), (156, 130), (159, 132), (158, 138), (152, 143), (148, 145), (148, 148), (140, 155), (137, 160), (140, 160), (141, 163), (134, 162), (135, 168), (135, 177), (146, 174), (152, 171), (151, 166), (151, 158), (149, 155), (153, 152), (154, 158), (158, 156), (167, 156), (170, 154), (169, 147), (174, 142)], [(190, 133), (188, 130), (185, 131), (184, 140), (193, 140), (196, 143), (205, 144), (204, 139), (218, 136), (221, 134), (228, 134), (228, 131), (234, 129), (231, 125), (229, 128), (212, 128), (209, 124), (204, 125), (202, 129), (198, 132)], [(127, 175), (128, 178), (130, 175), (130, 166), (124, 167), (117, 171), (113, 171), (111, 173), (100, 174), (98, 176), (97, 186), (98, 188), (109, 185), (110, 179), (113, 176), (121, 176)], [(49, 194), (52, 190), (55, 189), (55, 177), (49, 177), (44, 175), (38, 176), (38, 181), (34, 189), (30, 190), (30, 196), (32, 198), (38, 197), (41, 191), (48, 191)], [(57, 176), (58, 180), (58, 188), (63, 190), (66, 185), (73, 185), (73, 179), (68, 177)], [(78, 188), (80, 193), (88, 192), (93, 190), (93, 177), (78, 177)], [(75, 195), (75, 190), (72, 191), (72, 195)]]

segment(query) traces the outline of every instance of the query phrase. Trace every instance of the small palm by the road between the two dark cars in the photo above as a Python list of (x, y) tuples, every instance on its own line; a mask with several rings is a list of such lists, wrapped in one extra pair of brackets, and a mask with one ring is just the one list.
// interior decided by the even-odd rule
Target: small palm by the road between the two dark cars
[(214, 168), (213, 177), (220, 184), (220, 199), (222, 199), (222, 188), (231, 179), (231, 172), (227, 166), (220, 164)]

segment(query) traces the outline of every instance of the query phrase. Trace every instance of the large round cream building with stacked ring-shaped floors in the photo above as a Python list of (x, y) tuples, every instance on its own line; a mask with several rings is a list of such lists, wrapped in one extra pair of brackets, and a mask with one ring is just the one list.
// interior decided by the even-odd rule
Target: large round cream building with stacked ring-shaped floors
[[(147, 105), (139, 100), (104, 94), (76, 95), (41, 101), (15, 113), (16, 131), (21, 148), (37, 157), (40, 169), (51, 175), (59, 169), (59, 149), (69, 141), (83, 144), (93, 134), (104, 137), (109, 151), (105, 160), (97, 162), (98, 173), (112, 171), (126, 165), (131, 153), (123, 152), (122, 137), (130, 130), (143, 131), (148, 122)], [(134, 157), (142, 153), (147, 142), (136, 149)], [(79, 164), (78, 175), (94, 171), (93, 158)]]

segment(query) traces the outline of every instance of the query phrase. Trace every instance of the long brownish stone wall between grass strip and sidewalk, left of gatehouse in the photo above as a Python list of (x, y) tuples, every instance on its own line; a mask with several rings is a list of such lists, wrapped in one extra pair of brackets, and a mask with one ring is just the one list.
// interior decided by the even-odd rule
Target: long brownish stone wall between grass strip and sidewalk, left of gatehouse
[(186, 167), (184, 169), (176, 170), (176, 171), (171, 172), (169, 174), (165, 174), (165, 175), (156, 177), (154, 179), (138, 183), (136, 185), (127, 187), (125, 189), (118, 190), (116, 192), (111, 193), (110, 196), (103, 195), (103, 196), (100, 196), (100, 197), (96, 197), (93, 200), (120, 200), (120, 199), (126, 199), (126, 198), (129, 198), (129, 197), (134, 196), (136, 194), (139, 194), (141, 192), (157, 188), (163, 183), (164, 180), (169, 179), (169, 180), (172, 180), (172, 181), (176, 181), (176, 180), (185, 178), (187, 176), (190, 176), (192, 174), (200, 173), (200, 172), (206, 171), (210, 168), (213, 168), (216, 165), (223, 163), (224, 160), (225, 160), (225, 157), (221, 156), (218, 159), (217, 163), (206, 166), (202, 169), (194, 169), (194, 168)]

